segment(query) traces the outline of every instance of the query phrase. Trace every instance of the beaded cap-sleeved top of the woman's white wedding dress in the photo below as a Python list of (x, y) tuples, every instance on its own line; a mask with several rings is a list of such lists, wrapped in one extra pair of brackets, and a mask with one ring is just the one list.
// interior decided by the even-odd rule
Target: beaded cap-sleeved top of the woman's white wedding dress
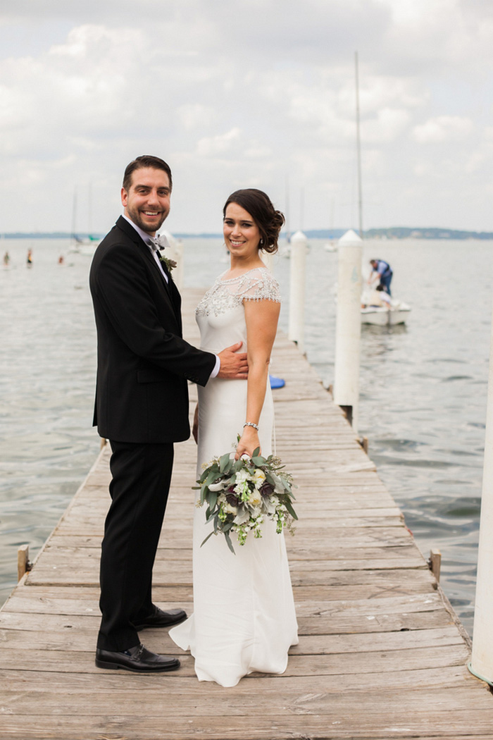
[[(225, 275), (225, 272), (222, 273)], [(216, 282), (205, 293), (195, 309), (199, 316), (219, 316), (241, 306), (244, 300), (274, 300), (281, 302), (279, 283), (267, 267), (255, 267), (238, 277), (228, 280), (217, 277)]]

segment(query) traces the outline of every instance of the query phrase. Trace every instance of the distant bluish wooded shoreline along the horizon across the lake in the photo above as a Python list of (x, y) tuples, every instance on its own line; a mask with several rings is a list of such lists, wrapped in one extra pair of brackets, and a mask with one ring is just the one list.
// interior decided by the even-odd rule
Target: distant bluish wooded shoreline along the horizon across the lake
[[(356, 229), (355, 229), (356, 230)], [(339, 239), (347, 229), (307, 229), (305, 235), (312, 239)], [(363, 232), (364, 238), (367, 239), (439, 239), (439, 240), (493, 240), (493, 232), (473, 232), (460, 231), (458, 229), (439, 229), (439, 228), (409, 228), (407, 226), (392, 226), (390, 229), (368, 229)], [(67, 232), (11, 232), (1, 235), (5, 239), (71, 239), (72, 234)], [(92, 234), (92, 240), (102, 239), (104, 234)], [(173, 232), (177, 239), (222, 239), (222, 234), (186, 234)], [(285, 233), (283, 234), (285, 237)], [(87, 240), (89, 234), (78, 233), (78, 239)], [(0, 239), (1, 244), (1, 239)]]

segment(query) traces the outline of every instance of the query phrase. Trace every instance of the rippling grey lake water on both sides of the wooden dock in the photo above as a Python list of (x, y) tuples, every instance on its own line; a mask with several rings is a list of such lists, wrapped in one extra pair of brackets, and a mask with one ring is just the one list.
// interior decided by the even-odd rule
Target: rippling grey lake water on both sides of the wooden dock
[[(27, 249), (33, 266), (27, 269)], [(33, 558), (99, 449), (92, 429), (95, 328), (90, 258), (63, 240), (1, 240), (2, 343), (0, 603), (16, 584), (16, 551)], [(66, 266), (58, 256), (66, 256)], [(184, 240), (186, 286), (208, 286), (222, 263), (219, 239)], [(366, 242), (364, 266), (384, 258), (392, 295), (412, 305), (407, 326), (364, 326), (359, 433), (378, 473), (428, 557), (441, 549), (441, 585), (472, 633), (492, 319), (493, 243)], [(289, 260), (274, 273), (288, 327)], [(306, 351), (333, 382), (337, 253), (310, 240)]]

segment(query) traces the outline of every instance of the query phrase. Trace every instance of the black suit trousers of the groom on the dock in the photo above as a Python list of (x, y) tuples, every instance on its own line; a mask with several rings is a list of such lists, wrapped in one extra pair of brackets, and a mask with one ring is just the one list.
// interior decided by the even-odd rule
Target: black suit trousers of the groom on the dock
[(110, 440), (112, 503), (101, 549), (98, 647), (126, 650), (140, 642), (132, 622), (152, 613), (152, 568), (163, 526), (173, 444)]

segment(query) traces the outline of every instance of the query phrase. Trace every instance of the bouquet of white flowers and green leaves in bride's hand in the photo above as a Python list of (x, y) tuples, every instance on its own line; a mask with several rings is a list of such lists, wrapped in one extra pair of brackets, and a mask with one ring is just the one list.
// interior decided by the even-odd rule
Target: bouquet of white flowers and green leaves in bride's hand
[(287, 528), (293, 534), (293, 519), (298, 519), (293, 509), (293, 477), (284, 470), (279, 457), (265, 458), (256, 448), (252, 457), (242, 455), (234, 460), (234, 452), (214, 457), (205, 465), (200, 479), (200, 502), (207, 504), (205, 519), (214, 522), (211, 534), (222, 532), (231, 552), (234, 553), (231, 533), (237, 534), (239, 545), (245, 545), (249, 532), (262, 536), (261, 525), (265, 517), (276, 522), (276, 532)]

